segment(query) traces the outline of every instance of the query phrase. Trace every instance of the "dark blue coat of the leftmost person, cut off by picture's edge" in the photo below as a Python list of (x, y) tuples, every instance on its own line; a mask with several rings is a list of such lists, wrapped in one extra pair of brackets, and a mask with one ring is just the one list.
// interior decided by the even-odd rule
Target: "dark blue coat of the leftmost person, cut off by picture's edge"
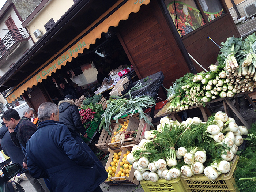
[[(18, 148), (12, 142), (8, 128), (5, 125), (0, 128), (0, 139), (4, 154), (10, 157), (13, 163), (19, 163), (22, 166), (24, 159), (23, 152), (21, 148)], [(23, 171), (25, 170), (23, 168)]]

